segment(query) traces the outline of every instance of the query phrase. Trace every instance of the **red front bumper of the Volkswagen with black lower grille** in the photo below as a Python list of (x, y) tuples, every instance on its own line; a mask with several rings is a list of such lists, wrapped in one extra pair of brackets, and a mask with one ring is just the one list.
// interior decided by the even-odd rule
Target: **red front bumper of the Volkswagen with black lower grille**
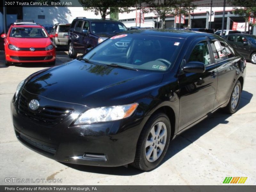
[[(6, 49), (5, 49), (6, 50)], [(34, 63), (34, 62), (52, 62), (56, 60), (55, 48), (49, 51), (5, 51), (5, 59), (9, 62)]]

